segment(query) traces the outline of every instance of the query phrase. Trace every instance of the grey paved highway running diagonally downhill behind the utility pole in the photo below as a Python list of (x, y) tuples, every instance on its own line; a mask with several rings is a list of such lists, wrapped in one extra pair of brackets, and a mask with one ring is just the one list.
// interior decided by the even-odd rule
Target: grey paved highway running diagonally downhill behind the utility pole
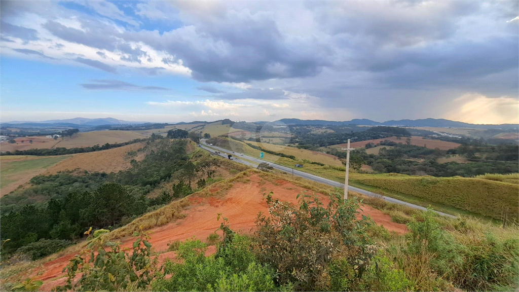
[[(316, 175), (308, 174), (307, 172), (304, 172), (304, 171), (301, 171), (301, 170), (297, 170), (297, 169), (294, 169), (294, 168), (291, 168), (291, 167), (286, 167), (286, 166), (283, 166), (283, 165), (275, 164), (275, 163), (272, 163), (272, 162), (268, 162), (268, 161), (262, 160), (260, 158), (251, 157), (251, 156), (248, 156), (248, 155), (245, 155), (245, 154), (233, 153), (232, 151), (229, 151), (229, 150), (224, 149), (224, 148), (220, 148), (220, 147), (216, 147), (216, 146), (209, 146), (209, 145), (206, 144), (206, 142), (204, 140), (201, 140), (200, 143), (201, 143), (200, 144), (201, 148), (204, 149), (204, 150), (207, 150), (207, 151), (212, 152), (212, 153), (214, 153), (214, 150), (210, 149), (209, 147), (217, 149), (217, 150), (220, 150), (220, 152), (221, 152), (220, 156), (228, 158), (227, 155), (225, 155), (225, 154), (231, 154), (231, 155), (233, 155), (234, 161), (242, 163), (242, 164), (245, 164), (245, 165), (248, 165), (248, 166), (251, 166), (251, 167), (257, 167), (257, 164), (260, 164), (262, 162), (267, 162), (268, 164), (270, 164), (270, 166), (272, 166), (272, 167), (274, 167), (274, 168), (276, 168), (278, 170), (285, 171), (288, 174), (293, 173), (294, 176), (298, 176), (298, 177), (302, 177), (302, 178), (305, 178), (305, 179), (308, 179), (308, 180), (312, 180), (312, 181), (324, 183), (324, 184), (327, 184), (327, 185), (331, 185), (332, 187), (337, 187), (337, 188), (344, 189), (344, 183), (340, 183), (340, 182), (336, 182), (336, 181), (333, 181), (333, 180), (330, 180), (330, 179), (322, 178), (322, 177), (319, 177), (319, 176), (316, 176)], [(250, 163), (248, 161), (244, 161), (244, 160), (242, 160), (240, 158), (245, 158), (245, 159), (247, 159), (249, 161), (253, 161), (253, 162), (257, 163), (257, 164), (253, 164), (253, 163)], [(384, 196), (384, 195), (381, 195), (381, 194), (377, 194), (377, 193), (373, 193), (373, 192), (370, 192), (370, 191), (366, 191), (366, 190), (363, 190), (363, 189), (359, 189), (359, 188), (356, 188), (356, 187), (352, 187), (351, 185), (348, 185), (348, 190), (351, 190), (351, 191), (354, 191), (354, 192), (358, 192), (358, 193), (366, 195), (366, 196), (378, 197), (378, 198), (381, 198), (382, 200), (385, 200), (385, 201), (390, 202), (390, 203), (406, 205), (406, 206), (409, 206), (411, 208), (415, 208), (415, 209), (419, 209), (419, 210), (424, 210), (424, 211), (427, 210), (427, 208), (422, 207), (422, 206), (418, 206), (418, 205), (415, 205), (415, 204), (411, 204), (411, 203), (407, 203), (407, 202), (404, 202), (404, 201), (397, 200), (397, 199), (392, 198), (392, 197), (388, 197), (388, 196)], [(438, 213), (438, 214), (440, 214), (442, 216), (456, 218), (456, 216), (453, 216), (453, 215), (450, 215), (450, 214), (446, 214), (446, 213), (443, 213), (443, 212), (440, 212), (440, 211), (434, 211), (434, 212)]]

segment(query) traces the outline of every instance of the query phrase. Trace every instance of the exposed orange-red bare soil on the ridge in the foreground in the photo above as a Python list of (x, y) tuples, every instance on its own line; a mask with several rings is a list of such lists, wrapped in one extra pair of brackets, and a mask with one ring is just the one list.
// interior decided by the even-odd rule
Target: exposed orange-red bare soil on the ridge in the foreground
[[(296, 204), (297, 194), (303, 193), (306, 189), (288, 181), (276, 180), (272, 183), (257, 175), (252, 175), (250, 182), (237, 182), (224, 195), (217, 197), (192, 195), (189, 197), (190, 205), (185, 210), (187, 216), (152, 229), (151, 234), (149, 234), (151, 236), (149, 242), (153, 244), (156, 251), (163, 253), (159, 259), (164, 261), (166, 258), (175, 256), (174, 252), (165, 253), (170, 242), (184, 241), (188, 238), (206, 241), (209, 234), (214, 232), (222, 235), (221, 231), (216, 230), (220, 227), (223, 217), (229, 220), (228, 222), (233, 230), (250, 234), (251, 229), (255, 226), (258, 212), (262, 211), (263, 214), (268, 214), (268, 206), (263, 197), (265, 193), (270, 191), (274, 192), (274, 199), (279, 198), (280, 201)], [(323, 204), (326, 205), (328, 202), (326, 196), (318, 195)], [(389, 231), (399, 234), (407, 232), (405, 224), (391, 222), (391, 217), (380, 210), (367, 205), (362, 206), (362, 209), (359, 218), (362, 215), (370, 216), (377, 224), (382, 224)], [(221, 214), (222, 217), (219, 221), (216, 220), (218, 214)], [(122, 247), (131, 248), (134, 239), (134, 237), (121, 238)], [(211, 247), (208, 253), (214, 253), (213, 249), (214, 247)], [(40, 287), (40, 290), (49, 290), (56, 285), (62, 285), (63, 278), (57, 277), (65, 275), (62, 270), (72, 257), (73, 255), (69, 254), (43, 264), (41, 270), (44, 272), (37, 276), (37, 280), (43, 280), (46, 283)]]

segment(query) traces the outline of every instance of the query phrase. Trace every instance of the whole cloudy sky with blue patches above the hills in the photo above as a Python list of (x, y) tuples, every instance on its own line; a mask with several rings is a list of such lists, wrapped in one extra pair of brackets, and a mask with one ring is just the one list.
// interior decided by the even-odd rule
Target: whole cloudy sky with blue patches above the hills
[(1, 1), (0, 121), (519, 123), (519, 1)]

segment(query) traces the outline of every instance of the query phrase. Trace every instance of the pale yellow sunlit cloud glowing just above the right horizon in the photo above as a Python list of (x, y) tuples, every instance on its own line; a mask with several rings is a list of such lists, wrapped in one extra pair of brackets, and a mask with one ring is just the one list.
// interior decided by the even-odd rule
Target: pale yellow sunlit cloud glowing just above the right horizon
[(453, 101), (445, 118), (471, 124), (519, 124), (519, 100), (466, 94)]

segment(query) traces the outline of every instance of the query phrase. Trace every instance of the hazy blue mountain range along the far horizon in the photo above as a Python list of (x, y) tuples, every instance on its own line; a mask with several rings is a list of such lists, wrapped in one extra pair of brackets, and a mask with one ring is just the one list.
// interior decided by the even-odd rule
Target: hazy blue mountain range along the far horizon
[[(220, 120), (224, 121), (224, 120)], [(220, 122), (216, 121), (216, 122)], [(229, 120), (225, 120), (229, 121)], [(229, 121), (230, 122), (230, 121)], [(181, 122), (181, 124), (208, 124), (214, 122), (206, 121), (195, 121), (195, 122)], [(325, 120), (299, 120), (298, 118), (282, 118), (275, 122), (255, 122), (255, 124), (285, 124), (285, 125), (319, 125), (319, 126), (343, 126), (343, 125), (366, 125), (366, 126), (401, 126), (401, 127), (453, 127), (453, 128), (476, 128), (476, 129), (516, 129), (519, 127), (517, 124), (501, 124), (501, 125), (482, 125), (482, 124), (469, 124), (463, 122), (456, 122), (445, 120), (444, 118), (423, 118), (419, 120), (391, 120), (386, 122), (376, 122), (372, 120), (353, 119), (350, 121), (325, 121)], [(136, 125), (136, 124), (148, 124), (148, 122), (129, 122), (117, 120), (116, 118), (85, 118), (76, 117), (68, 120), (48, 120), (42, 122), (27, 122), (27, 121), (13, 121), (2, 123), (2, 126), (17, 126), (23, 128), (29, 127), (95, 127), (102, 125)]]

